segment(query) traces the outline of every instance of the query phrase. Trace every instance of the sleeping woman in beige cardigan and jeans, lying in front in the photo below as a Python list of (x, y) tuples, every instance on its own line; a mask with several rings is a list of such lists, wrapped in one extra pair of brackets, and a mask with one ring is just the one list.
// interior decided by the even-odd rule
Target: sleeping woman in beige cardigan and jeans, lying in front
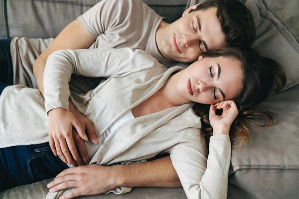
[[(56, 51), (48, 58), (45, 68), (45, 101), (37, 90), (22, 86), (8, 87), (1, 95), (2, 175), (13, 178), (6, 185), (11, 187), (25, 182), (26, 179), (17, 182), (17, 174), (22, 172), (28, 173), (25, 183), (31, 183), (55, 176), (69, 167), (60, 160), (64, 157), (57, 158), (49, 152), (50, 147), (46, 143), (48, 120), (43, 112), (45, 107), (49, 123), (54, 119), (63, 119), (69, 114), (70, 97), (79, 112), (93, 122), (100, 142), (96, 147), (87, 142), (89, 156), (92, 157), (90, 164), (130, 164), (160, 153), (169, 153), (188, 198), (226, 198), (230, 137), (234, 138), (240, 132), (239, 137), (244, 135), (244, 128), (230, 132), (234, 129), (230, 128), (233, 122), (236, 128), (242, 126), (235, 120), (237, 105), (246, 116), (244, 110), (263, 101), (273, 88), (280, 90), (286, 78), (279, 65), (273, 60), (260, 58), (253, 49), (209, 51), (202, 53), (199, 59), (183, 70), (181, 67), (166, 69), (141, 50)], [(97, 64), (101, 67), (94, 67)], [(68, 87), (72, 74), (110, 78), (95, 90), (78, 95), (70, 92)], [(26, 101), (26, 106), (23, 101)], [(206, 107), (200, 109), (201, 104), (211, 104), (209, 120), (205, 118)], [(222, 115), (216, 114), (216, 106), (223, 109)], [(16, 111), (18, 114), (15, 114)], [(202, 122), (196, 114), (202, 116)], [(254, 114), (259, 115), (259, 112), (255, 111)], [(265, 118), (271, 119), (270, 116)], [(12, 122), (17, 125), (12, 125)], [(68, 130), (74, 127), (82, 138), (85, 137), (78, 124), (68, 125)], [(213, 129), (208, 160), (205, 142), (200, 139), (202, 126), (205, 132), (211, 131), (208, 127)], [(19, 134), (20, 131), (24, 133)], [(50, 139), (49, 142), (54, 153), (56, 145), (69, 144), (63, 138)], [(20, 156), (18, 147), (21, 151), (29, 147), (35, 149), (36, 153), (30, 158), (37, 159), (39, 164), (30, 167), (30, 158), (10, 161), (7, 156)], [(36, 158), (47, 152), (50, 155), (46, 158)], [(7, 171), (7, 174), (3, 172), (19, 161), (28, 161), (26, 172), (21, 169)], [(72, 177), (69, 175), (72, 171), (65, 170), (56, 177), (49, 184), (49, 188), (53, 187), (50, 192), (78, 187), (72, 184), (76, 182), (72, 179), (68, 179), (69, 187), (64, 187), (62, 183)], [(78, 196), (78, 190), (64, 198)], [(88, 194), (98, 193), (95, 189)]]

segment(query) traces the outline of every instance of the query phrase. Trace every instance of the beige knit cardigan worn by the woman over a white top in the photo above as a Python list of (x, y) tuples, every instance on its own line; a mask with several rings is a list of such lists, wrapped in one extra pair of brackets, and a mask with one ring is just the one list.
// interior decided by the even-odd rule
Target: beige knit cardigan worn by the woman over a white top
[[(69, 97), (93, 122), (101, 140), (103, 132), (126, 111), (147, 100), (180, 70), (167, 70), (148, 53), (129, 48), (56, 51), (49, 56), (44, 72), (45, 101), (37, 90), (22, 86), (8, 87), (1, 95), (0, 147), (47, 142), (46, 112), (57, 107), (68, 109)], [(77, 95), (69, 91), (71, 74), (110, 78), (87, 94)], [(200, 118), (192, 105), (168, 108), (122, 124), (101, 143), (90, 164), (131, 163), (169, 153), (189, 199), (226, 199), (229, 137), (212, 136), (208, 157), (200, 140)], [(125, 193), (128, 189), (117, 191)], [(47, 198), (63, 193), (48, 194)]]

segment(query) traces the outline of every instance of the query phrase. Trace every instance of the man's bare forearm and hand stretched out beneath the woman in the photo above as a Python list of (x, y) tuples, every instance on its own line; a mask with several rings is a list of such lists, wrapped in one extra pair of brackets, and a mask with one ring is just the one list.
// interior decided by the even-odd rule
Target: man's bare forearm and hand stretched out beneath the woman
[(62, 199), (97, 195), (117, 187), (181, 187), (170, 157), (134, 165), (87, 165), (64, 170), (47, 187), (50, 193), (76, 188)]

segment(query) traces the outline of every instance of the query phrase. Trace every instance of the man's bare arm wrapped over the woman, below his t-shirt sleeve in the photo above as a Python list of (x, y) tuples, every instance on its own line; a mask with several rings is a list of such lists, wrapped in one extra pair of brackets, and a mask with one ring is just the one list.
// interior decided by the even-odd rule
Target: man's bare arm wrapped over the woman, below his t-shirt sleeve
[(42, 95), (43, 73), (48, 56), (56, 50), (88, 48), (94, 41), (95, 38), (83, 28), (78, 19), (71, 22), (59, 33), (54, 41), (35, 60), (33, 65), (33, 74)]

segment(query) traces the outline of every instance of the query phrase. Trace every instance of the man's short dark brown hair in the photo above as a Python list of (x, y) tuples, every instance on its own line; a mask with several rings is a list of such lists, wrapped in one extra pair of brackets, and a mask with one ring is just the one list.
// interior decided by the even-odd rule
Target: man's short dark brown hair
[(217, 18), (228, 46), (251, 46), (255, 39), (255, 23), (249, 9), (239, 0), (212, 0), (201, 3), (196, 10), (217, 7)]

